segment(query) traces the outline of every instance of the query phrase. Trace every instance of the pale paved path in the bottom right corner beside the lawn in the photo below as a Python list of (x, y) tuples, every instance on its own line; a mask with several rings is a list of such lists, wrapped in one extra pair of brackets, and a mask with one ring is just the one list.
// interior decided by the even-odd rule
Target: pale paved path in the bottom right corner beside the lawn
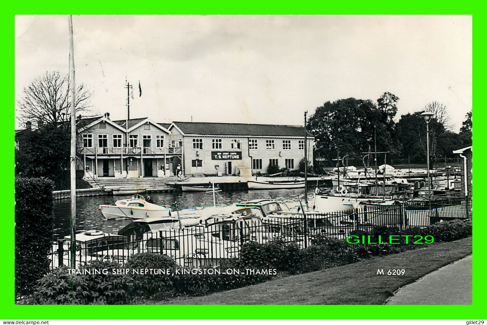
[(472, 255), (397, 291), (387, 305), (471, 305)]

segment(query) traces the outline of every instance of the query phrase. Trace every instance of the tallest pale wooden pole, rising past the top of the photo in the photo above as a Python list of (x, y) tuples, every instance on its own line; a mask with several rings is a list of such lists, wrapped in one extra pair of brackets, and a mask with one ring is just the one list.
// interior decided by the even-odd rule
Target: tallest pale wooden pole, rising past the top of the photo
[(76, 84), (75, 84), (75, 47), (73, 41), (73, 18), (69, 15), (69, 56), (71, 80), (71, 268), (76, 267)]

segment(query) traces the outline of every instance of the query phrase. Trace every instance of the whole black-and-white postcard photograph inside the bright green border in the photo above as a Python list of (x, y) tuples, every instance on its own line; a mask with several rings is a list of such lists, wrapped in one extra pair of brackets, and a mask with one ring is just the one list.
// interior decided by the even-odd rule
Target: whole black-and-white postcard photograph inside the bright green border
[(15, 16), (15, 304), (471, 305), (472, 16)]

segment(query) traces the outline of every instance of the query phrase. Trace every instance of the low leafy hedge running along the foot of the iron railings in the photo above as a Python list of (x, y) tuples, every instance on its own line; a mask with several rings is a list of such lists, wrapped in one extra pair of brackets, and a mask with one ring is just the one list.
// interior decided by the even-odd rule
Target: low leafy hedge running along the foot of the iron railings
[[(471, 220), (454, 220), (433, 224), (426, 228), (401, 231), (397, 228), (375, 227), (370, 233), (356, 231), (356, 235), (433, 235), (435, 242), (452, 241), (472, 234)], [(177, 296), (199, 296), (212, 292), (236, 289), (267, 281), (273, 275), (246, 274), (245, 269), (276, 269), (278, 276), (318, 271), (354, 263), (391, 253), (400, 253), (423, 245), (349, 244), (343, 239), (317, 236), (312, 245), (300, 249), (296, 244), (286, 244), (277, 239), (265, 244), (244, 244), (239, 259), (225, 260), (219, 270), (237, 269), (238, 274), (173, 274), (173, 275), (73, 275), (67, 276), (65, 268), (56, 269), (38, 281), (37, 289), (21, 304), (129, 304), (140, 299), (164, 300)], [(110, 262), (92, 262), (83, 268), (121, 268)], [(176, 268), (165, 255), (142, 253), (132, 255), (123, 266), (128, 269)], [(211, 269), (211, 266), (202, 269)], [(174, 272), (174, 271), (173, 271)], [(72, 282), (70, 282), (70, 280)], [(73, 291), (71, 291), (71, 285)]]

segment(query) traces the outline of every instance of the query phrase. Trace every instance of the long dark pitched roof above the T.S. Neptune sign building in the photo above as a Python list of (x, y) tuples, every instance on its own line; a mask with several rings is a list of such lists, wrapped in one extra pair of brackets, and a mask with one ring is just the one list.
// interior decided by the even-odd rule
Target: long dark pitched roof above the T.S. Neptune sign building
[[(304, 137), (303, 126), (245, 123), (172, 122), (184, 134)], [(307, 132), (309, 137), (313, 135)]]

